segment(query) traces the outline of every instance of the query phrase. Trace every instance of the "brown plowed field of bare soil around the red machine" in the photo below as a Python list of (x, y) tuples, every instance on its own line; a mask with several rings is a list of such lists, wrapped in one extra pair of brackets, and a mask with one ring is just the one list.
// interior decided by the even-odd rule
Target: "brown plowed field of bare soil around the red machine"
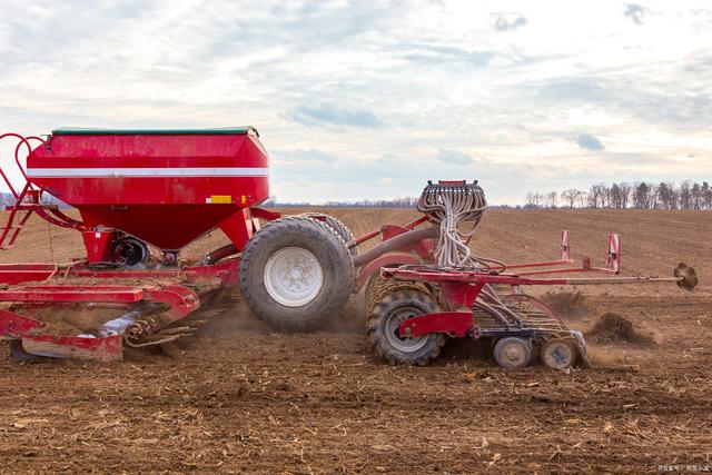
[[(355, 234), (415, 211), (334, 214)], [(634, 342), (593, 338), (595, 369), (501, 370), (478, 342), (451, 342), (431, 367), (369, 355), (363, 296), (324, 331), (270, 333), (239, 295), (201, 310), (199, 337), (121, 364), (19, 365), (0, 347), (0, 472), (656, 473), (712, 467), (712, 212), (491, 210), (473, 247), (506, 260), (604, 258), (620, 231), (625, 274), (694, 265), (673, 285), (551, 288), (574, 328), (604, 313)], [(79, 236), (33, 218), (2, 261), (81, 255)], [(191, 246), (222, 243), (214, 232)], [(545, 289), (535, 289), (540, 295)], [(591, 339), (591, 338), (590, 338)]]

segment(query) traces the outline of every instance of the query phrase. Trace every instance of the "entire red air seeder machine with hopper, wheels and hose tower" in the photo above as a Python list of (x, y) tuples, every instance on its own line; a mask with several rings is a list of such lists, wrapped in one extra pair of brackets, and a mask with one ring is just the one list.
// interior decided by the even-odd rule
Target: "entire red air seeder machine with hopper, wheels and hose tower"
[[(32, 215), (81, 232), (86, 248), (85, 257), (62, 264), (0, 265), (0, 338), (23, 362), (120, 360), (125, 346), (166, 345), (192, 335), (200, 320), (189, 317), (201, 303), (235, 286), (274, 329), (317, 330), (365, 287), (370, 345), (390, 363), (426, 364), (447, 337), (472, 337), (492, 339), (505, 367), (536, 355), (567, 367), (587, 363), (581, 335), (523, 286), (696, 284), (684, 265), (671, 278), (617, 276), (615, 235), (601, 268), (590, 260), (566, 267), (566, 232), (561, 260), (475, 257), (467, 246), (475, 227), (459, 227), (476, 226), (486, 204), (465, 181), (428, 184), (419, 219), (359, 238), (325, 214), (283, 217), (259, 207), (269, 197), (268, 156), (250, 127), (0, 135), (0, 146), (8, 141), (14, 156), (0, 157), (0, 176), (12, 202), (0, 249), (18, 243)], [(225, 246), (199, 261), (182, 259), (181, 249), (215, 229)], [(542, 277), (573, 271), (611, 276)], [(72, 314), (85, 317), (81, 326), (57, 318)]]

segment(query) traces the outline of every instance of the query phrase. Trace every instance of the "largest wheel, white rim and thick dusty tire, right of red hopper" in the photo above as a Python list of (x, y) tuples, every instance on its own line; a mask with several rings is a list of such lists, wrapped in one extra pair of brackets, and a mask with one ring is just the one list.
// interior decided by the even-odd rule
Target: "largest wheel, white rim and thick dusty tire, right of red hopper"
[(313, 331), (342, 310), (354, 285), (344, 239), (305, 216), (280, 218), (245, 246), (239, 286), (250, 310), (279, 331)]

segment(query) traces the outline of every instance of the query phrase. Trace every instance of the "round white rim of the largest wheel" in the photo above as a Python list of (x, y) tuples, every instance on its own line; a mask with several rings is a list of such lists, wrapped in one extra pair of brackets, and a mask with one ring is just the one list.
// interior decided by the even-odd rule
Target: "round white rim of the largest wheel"
[(324, 286), (324, 269), (316, 256), (303, 247), (285, 247), (273, 254), (264, 270), (267, 294), (287, 307), (314, 300)]

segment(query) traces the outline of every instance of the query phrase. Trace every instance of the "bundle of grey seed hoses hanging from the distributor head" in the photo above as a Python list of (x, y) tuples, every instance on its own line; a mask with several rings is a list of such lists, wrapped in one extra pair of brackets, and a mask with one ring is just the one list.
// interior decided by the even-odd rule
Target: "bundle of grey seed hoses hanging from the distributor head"
[[(418, 210), (439, 226), (435, 248), (438, 266), (504, 270), (503, 263), (474, 256), (467, 246), (486, 207), (485, 194), (476, 180), (472, 184), (465, 180), (427, 182), (418, 200)], [(463, 222), (472, 222), (472, 229), (461, 231), (458, 225)]]

